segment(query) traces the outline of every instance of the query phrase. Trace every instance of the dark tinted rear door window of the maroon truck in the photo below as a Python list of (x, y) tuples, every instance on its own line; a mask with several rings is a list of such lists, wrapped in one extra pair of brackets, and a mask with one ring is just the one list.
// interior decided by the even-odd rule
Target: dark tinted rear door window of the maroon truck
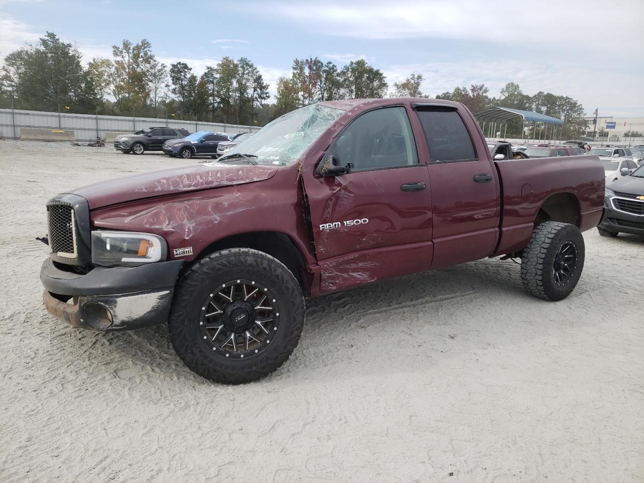
[(453, 109), (419, 110), (432, 161), (476, 159), (474, 146), (459, 113)]

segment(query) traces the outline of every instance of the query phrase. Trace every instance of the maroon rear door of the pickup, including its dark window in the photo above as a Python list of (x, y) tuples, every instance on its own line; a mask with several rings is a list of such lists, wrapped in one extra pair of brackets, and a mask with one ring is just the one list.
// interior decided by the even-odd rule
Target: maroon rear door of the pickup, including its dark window
[(486, 144), (467, 111), (451, 105), (414, 104), (429, 148), (432, 268), (478, 260), (498, 239), (500, 189)]

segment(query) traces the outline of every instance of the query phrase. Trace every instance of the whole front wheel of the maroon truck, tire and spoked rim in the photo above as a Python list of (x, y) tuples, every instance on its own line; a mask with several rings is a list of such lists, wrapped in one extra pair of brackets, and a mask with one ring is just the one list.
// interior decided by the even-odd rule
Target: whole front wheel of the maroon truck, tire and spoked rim
[(168, 327), (190, 370), (216, 383), (241, 384), (285, 363), (304, 319), (302, 290), (283, 263), (260, 251), (227, 249), (185, 272)]

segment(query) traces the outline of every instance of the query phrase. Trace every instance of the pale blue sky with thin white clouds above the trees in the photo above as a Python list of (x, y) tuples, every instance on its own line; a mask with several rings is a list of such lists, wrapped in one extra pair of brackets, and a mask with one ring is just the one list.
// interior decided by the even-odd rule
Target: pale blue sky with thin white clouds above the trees
[(432, 97), (480, 83), (498, 97), (512, 81), (529, 95), (572, 97), (587, 114), (644, 117), (643, 19), (643, 0), (0, 0), (0, 63), (46, 31), (85, 63), (145, 38), (162, 62), (197, 74), (248, 57), (273, 95), (293, 59), (362, 58), (390, 91), (412, 73)]

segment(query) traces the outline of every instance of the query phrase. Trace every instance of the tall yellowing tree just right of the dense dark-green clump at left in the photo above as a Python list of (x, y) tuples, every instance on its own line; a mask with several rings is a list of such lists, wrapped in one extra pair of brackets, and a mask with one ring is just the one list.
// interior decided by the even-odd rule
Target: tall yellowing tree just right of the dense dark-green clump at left
[(142, 39), (138, 44), (128, 40), (112, 46), (114, 56), (114, 96), (122, 112), (145, 109), (150, 97), (151, 70), (155, 62), (152, 44)]

